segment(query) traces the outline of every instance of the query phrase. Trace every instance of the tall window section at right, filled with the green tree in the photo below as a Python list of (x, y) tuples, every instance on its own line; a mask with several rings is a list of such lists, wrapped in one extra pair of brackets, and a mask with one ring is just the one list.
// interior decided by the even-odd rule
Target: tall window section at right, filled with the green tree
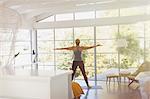
[[(120, 68), (121, 70), (126, 69), (126, 71), (137, 69), (144, 62), (143, 25), (140, 23), (120, 25), (120, 31), (116, 38), (125, 38), (127, 40), (127, 47), (117, 48), (120, 53)], [(132, 70), (132, 72), (134, 71)]]

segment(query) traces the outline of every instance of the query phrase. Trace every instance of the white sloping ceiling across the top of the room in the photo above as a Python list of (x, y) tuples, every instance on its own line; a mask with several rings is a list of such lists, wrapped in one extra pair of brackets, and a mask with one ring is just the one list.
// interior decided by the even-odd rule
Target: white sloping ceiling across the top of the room
[(57, 13), (140, 6), (150, 4), (150, 0), (0, 0), (0, 4), (24, 17), (33, 18)]

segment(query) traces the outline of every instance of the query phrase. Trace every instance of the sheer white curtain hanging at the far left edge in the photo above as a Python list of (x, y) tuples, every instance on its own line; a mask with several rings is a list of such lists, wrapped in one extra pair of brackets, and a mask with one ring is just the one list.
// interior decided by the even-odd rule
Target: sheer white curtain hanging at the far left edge
[(16, 33), (21, 23), (20, 15), (0, 6), (0, 66), (11, 73), (13, 70)]

